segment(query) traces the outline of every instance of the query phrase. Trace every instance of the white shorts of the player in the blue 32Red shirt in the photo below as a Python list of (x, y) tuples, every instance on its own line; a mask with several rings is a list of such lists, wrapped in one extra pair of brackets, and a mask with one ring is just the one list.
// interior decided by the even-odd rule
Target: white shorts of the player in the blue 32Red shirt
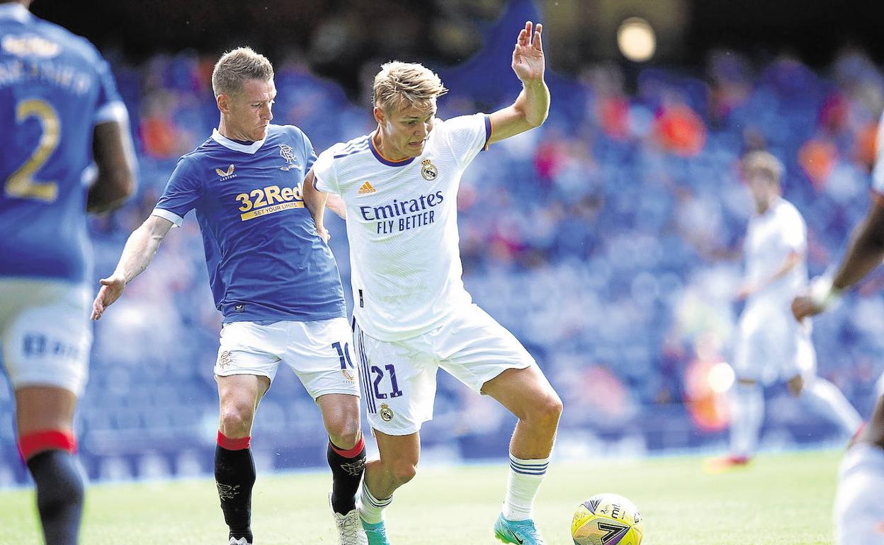
[(347, 319), (315, 322), (225, 323), (215, 375), (262, 375), (273, 381), (280, 363), (291, 367), (310, 396), (359, 396)]

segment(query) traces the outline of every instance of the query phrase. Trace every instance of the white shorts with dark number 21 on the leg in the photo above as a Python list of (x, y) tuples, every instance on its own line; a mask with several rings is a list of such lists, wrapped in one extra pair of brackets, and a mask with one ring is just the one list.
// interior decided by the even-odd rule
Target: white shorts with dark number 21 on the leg
[(387, 435), (413, 434), (432, 419), (438, 367), (481, 393), (485, 382), (507, 369), (537, 365), (512, 333), (476, 305), (402, 341), (370, 337), (354, 321), (354, 345), (369, 423)]

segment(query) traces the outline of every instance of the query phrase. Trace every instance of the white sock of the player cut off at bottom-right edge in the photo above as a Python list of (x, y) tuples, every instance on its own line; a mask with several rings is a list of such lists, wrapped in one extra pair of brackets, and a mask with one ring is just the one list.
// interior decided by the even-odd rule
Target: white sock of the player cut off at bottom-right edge
[(884, 545), (884, 449), (857, 443), (844, 455), (834, 526), (838, 545)]

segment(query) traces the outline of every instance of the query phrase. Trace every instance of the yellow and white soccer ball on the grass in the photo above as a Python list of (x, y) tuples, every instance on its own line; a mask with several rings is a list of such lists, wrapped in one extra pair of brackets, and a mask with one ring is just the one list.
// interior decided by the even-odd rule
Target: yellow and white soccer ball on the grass
[(636, 504), (616, 494), (597, 494), (581, 503), (571, 522), (575, 545), (638, 545), (642, 515)]

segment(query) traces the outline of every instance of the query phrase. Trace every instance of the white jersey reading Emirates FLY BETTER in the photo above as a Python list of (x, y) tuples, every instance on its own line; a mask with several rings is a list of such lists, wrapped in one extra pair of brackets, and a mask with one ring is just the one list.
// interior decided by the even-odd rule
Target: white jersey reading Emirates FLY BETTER
[(481, 113), (435, 119), (418, 157), (389, 161), (366, 135), (316, 159), (316, 189), (347, 205), (354, 315), (371, 337), (422, 335), (472, 302), (461, 280), (457, 191), (491, 131)]

